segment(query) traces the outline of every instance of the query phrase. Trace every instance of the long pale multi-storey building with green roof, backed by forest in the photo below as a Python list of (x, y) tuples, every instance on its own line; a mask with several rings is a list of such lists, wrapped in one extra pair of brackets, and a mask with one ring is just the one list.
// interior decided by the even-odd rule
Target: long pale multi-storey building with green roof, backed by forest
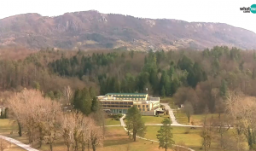
[(110, 113), (127, 113), (130, 107), (137, 106), (144, 115), (153, 115), (154, 110), (160, 107), (160, 98), (147, 93), (108, 93), (98, 96), (98, 100)]

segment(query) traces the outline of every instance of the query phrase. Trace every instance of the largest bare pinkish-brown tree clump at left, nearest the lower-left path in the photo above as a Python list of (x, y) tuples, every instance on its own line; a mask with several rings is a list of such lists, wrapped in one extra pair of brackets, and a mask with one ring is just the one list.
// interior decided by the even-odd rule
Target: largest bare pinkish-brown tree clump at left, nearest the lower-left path
[(44, 98), (38, 90), (22, 90), (9, 99), (9, 108), (15, 119), (25, 128), (29, 142), (42, 141), (49, 136), (49, 144), (54, 142), (53, 127), (61, 119), (61, 105), (49, 98)]

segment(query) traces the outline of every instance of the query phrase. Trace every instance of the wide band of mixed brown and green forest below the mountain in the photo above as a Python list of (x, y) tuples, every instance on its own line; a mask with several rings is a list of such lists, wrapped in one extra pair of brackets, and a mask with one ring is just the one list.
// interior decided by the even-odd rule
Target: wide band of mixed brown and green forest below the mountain
[(16, 58), (1, 56), (3, 91), (35, 88), (58, 100), (66, 86), (78, 94), (93, 91), (91, 98), (108, 92), (146, 92), (148, 88), (151, 96), (173, 96), (177, 104), (191, 102), (195, 113), (206, 107), (211, 113), (222, 113), (228, 90), (256, 96), (253, 50), (225, 46), (167, 52), (41, 49)]

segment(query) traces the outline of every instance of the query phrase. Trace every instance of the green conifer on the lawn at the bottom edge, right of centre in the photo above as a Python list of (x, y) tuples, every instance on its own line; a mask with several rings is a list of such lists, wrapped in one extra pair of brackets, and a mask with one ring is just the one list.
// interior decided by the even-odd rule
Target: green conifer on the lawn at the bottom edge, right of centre
[(172, 140), (172, 127), (171, 127), (171, 120), (170, 119), (164, 119), (162, 121), (161, 127), (160, 127), (160, 131), (157, 131), (158, 134), (157, 139), (159, 141), (159, 147), (160, 148), (172, 148), (172, 145), (175, 143)]

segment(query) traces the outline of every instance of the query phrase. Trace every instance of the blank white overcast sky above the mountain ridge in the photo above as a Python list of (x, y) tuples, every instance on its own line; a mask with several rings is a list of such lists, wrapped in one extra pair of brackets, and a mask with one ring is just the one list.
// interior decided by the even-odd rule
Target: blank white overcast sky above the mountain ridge
[(240, 10), (252, 4), (256, 0), (0, 0), (0, 19), (26, 13), (56, 16), (95, 9), (152, 19), (221, 22), (256, 33), (256, 14)]

